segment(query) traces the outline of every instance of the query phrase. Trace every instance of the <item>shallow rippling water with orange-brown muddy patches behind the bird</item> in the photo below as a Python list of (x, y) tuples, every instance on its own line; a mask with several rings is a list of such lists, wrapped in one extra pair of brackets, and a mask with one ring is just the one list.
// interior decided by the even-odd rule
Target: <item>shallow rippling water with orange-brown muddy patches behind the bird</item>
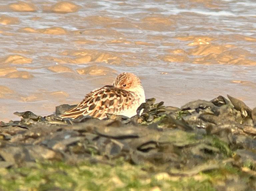
[(254, 0), (19, 2), (0, 1), (0, 120), (77, 104), (122, 71), (166, 105), (256, 107)]

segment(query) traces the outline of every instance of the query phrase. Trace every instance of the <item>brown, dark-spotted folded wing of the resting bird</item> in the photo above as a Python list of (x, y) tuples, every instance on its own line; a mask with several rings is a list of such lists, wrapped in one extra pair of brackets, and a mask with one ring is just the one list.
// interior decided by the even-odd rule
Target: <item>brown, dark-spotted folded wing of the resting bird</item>
[(118, 114), (135, 104), (134, 94), (114, 86), (104, 86), (87, 94), (77, 107), (64, 112), (60, 118), (78, 118), (90, 115), (105, 118), (106, 113)]

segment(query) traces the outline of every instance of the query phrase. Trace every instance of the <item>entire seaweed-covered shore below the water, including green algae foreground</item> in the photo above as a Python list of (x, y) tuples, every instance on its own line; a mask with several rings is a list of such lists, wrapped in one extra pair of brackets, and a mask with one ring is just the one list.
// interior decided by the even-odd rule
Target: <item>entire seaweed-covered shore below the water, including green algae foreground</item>
[(163, 104), (105, 120), (15, 112), (0, 123), (1, 190), (256, 190), (256, 108)]

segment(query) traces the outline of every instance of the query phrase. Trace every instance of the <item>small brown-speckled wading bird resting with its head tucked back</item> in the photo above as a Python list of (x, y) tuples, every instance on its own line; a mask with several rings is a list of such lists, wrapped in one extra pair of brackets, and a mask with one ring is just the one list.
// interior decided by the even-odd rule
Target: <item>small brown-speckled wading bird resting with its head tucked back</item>
[(64, 112), (60, 118), (90, 115), (103, 119), (107, 113), (131, 118), (144, 102), (145, 92), (139, 78), (133, 73), (120, 73), (113, 85), (91, 91), (77, 107)]

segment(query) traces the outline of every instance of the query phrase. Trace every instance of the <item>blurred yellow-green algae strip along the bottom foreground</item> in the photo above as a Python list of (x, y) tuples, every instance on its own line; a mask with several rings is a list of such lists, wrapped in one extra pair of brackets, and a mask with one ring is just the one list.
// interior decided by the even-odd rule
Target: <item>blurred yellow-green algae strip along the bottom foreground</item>
[(206, 190), (214, 191), (210, 181), (193, 177), (156, 179), (142, 165), (111, 165), (82, 162), (38, 162), (34, 167), (20, 167), (0, 172), (1, 190)]

